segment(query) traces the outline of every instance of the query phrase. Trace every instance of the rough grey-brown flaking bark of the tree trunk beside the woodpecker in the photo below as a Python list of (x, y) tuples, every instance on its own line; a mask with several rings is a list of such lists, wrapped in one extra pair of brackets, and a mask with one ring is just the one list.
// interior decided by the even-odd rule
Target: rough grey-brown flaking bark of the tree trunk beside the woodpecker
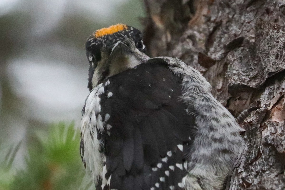
[(194, 66), (241, 123), (247, 149), (225, 189), (285, 189), (285, 0), (144, 0), (152, 56)]

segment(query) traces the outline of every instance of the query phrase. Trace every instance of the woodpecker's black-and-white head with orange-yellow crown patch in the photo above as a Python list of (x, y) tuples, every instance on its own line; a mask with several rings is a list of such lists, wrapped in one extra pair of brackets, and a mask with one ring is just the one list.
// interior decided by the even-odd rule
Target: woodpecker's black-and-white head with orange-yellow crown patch
[(141, 32), (124, 24), (96, 30), (89, 36), (85, 46), (89, 61), (90, 91), (104, 79), (150, 59)]

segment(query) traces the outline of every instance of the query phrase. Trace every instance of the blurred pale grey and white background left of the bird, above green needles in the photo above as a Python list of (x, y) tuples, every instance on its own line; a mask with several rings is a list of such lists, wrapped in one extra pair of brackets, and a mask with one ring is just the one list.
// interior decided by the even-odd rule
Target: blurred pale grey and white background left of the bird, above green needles
[(7, 145), (21, 142), (15, 173), (27, 167), (36, 131), (48, 136), (59, 121), (80, 128), (87, 37), (116, 23), (142, 29), (144, 12), (139, 0), (0, 0), (0, 148), (11, 156)]

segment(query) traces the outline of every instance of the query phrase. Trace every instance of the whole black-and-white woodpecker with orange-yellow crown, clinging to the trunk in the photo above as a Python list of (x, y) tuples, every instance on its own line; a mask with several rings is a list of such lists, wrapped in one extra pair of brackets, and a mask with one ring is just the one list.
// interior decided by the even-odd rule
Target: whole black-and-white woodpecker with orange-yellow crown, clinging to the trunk
[(80, 154), (96, 190), (223, 187), (244, 141), (199, 71), (150, 58), (141, 32), (125, 24), (96, 30), (86, 55)]

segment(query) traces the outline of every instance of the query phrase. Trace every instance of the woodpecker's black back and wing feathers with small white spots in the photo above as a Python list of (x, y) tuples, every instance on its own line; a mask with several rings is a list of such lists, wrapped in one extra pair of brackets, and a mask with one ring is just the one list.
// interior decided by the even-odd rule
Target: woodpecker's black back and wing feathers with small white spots
[[(103, 167), (101, 174), (97, 172), (102, 177), (97, 188), (181, 189), (196, 132), (194, 117), (181, 101), (181, 83), (157, 59), (109, 77), (93, 89), (96, 92), (86, 102), (99, 101), (96, 124), (89, 126), (96, 132), (88, 134), (88, 129), (84, 136), (95, 135), (92, 138), (101, 143), (103, 166), (91, 164)], [(86, 105), (83, 117), (92, 120)], [(88, 148), (94, 147), (85, 146), (85, 153), (93, 151)], [(82, 156), (87, 165), (92, 162)]]

